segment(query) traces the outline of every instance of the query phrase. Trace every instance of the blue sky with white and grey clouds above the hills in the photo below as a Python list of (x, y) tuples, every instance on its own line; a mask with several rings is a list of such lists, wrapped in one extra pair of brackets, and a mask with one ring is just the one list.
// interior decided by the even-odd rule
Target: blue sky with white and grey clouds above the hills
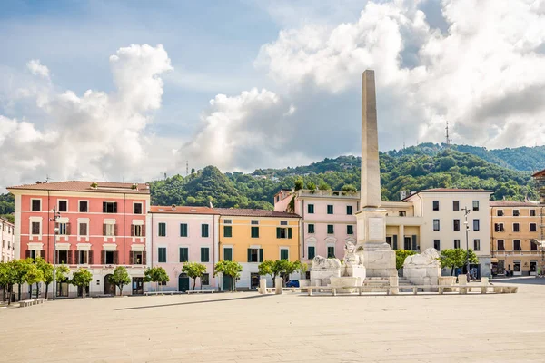
[(10, 1), (0, 190), (381, 151), (543, 144), (545, 0)]

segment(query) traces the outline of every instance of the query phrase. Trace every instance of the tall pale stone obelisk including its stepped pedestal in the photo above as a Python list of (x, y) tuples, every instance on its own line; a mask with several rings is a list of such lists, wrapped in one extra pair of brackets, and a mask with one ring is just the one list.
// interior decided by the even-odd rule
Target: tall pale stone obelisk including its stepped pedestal
[(362, 76), (362, 191), (356, 212), (358, 247), (367, 277), (397, 276), (395, 251), (386, 243), (386, 210), (381, 209), (381, 170), (374, 71)]

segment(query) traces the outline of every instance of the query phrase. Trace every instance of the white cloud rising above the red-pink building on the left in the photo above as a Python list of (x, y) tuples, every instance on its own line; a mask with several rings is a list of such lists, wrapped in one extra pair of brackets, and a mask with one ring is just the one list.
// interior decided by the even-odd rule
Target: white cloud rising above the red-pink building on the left
[(141, 180), (164, 168), (148, 165), (144, 129), (153, 120), (150, 112), (161, 106), (160, 75), (172, 69), (168, 54), (161, 44), (133, 44), (112, 55), (110, 65), (113, 93), (37, 89), (37, 101), (40, 93), (49, 93), (37, 106), (54, 120), (42, 130), (0, 115), (0, 185), (34, 182), (46, 174), (54, 180)]

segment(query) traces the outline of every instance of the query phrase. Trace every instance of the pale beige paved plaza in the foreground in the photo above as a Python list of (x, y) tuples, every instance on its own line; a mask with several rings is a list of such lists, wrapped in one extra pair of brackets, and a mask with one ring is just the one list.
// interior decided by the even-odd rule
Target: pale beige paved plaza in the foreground
[(0, 309), (1, 360), (543, 362), (545, 285), (521, 282), (503, 295), (50, 301)]

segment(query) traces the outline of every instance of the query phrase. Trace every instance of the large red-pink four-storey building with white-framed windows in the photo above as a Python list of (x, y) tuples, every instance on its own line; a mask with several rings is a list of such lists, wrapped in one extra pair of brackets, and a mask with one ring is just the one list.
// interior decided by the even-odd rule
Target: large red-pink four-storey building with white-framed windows
[[(84, 267), (93, 273), (91, 296), (114, 294), (116, 288), (108, 279), (116, 266), (123, 265), (132, 279), (124, 294), (144, 293), (149, 185), (47, 182), (8, 190), (15, 195), (16, 259), (42, 256), (71, 270)], [(59, 213), (56, 224), (54, 211)], [(81, 292), (67, 284), (57, 286), (59, 296)]]

